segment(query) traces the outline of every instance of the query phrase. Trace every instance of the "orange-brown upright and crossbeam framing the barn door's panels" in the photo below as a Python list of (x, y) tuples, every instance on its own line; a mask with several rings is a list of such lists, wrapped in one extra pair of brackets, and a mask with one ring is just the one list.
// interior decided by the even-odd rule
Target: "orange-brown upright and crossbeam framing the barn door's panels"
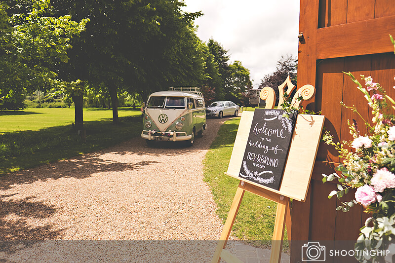
[[(298, 87), (306, 84), (317, 87), (317, 60), (394, 52), (388, 32), (395, 34), (395, 15), (324, 28), (318, 28), (318, 15), (319, 0), (300, 1)], [(328, 163), (317, 160), (312, 179), (316, 177), (314, 174), (328, 170)], [(292, 224), (292, 240), (309, 240), (311, 197), (310, 187), (305, 203), (292, 204), (292, 221), (298, 222)], [(300, 251), (291, 245), (291, 262), (298, 254)]]

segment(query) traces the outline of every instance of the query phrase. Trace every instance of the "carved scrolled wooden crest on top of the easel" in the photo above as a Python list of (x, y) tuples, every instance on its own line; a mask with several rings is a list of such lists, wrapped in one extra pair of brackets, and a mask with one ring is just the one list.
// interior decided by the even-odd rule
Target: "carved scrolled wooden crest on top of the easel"
[[(289, 76), (287, 76), (285, 81), (278, 86), (279, 99), (278, 99), (277, 109), (281, 109), (280, 105), (284, 102), (285, 87), (288, 87), (286, 90), (287, 95), (292, 94), (293, 90), (296, 88), (296, 86), (292, 84), (291, 78)], [(292, 98), (291, 105), (294, 108), (299, 108), (299, 105), (301, 104), (302, 100), (308, 101), (312, 99), (315, 94), (316, 94), (316, 89), (312, 85), (304, 85), (296, 91), (295, 95)], [(273, 88), (264, 87), (259, 95), (261, 97), (261, 100), (266, 101), (265, 109), (274, 108), (276, 103), (276, 93)], [(302, 100), (298, 101), (298, 98), (300, 96), (302, 96)]]

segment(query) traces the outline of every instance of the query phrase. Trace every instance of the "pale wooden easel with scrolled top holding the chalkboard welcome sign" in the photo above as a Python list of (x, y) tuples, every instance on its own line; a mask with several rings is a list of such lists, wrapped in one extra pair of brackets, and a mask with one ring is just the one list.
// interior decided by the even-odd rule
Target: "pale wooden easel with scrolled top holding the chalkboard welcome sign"
[[(278, 87), (280, 90), (280, 102), (282, 101), (284, 88), (287, 85), (287, 94), (291, 94), (295, 88), (288, 77), (284, 83)], [(315, 88), (312, 85), (305, 85), (298, 89), (292, 100), (295, 102), (294, 107), (297, 108), (300, 104), (300, 101), (297, 101), (296, 98), (302, 95), (303, 100), (308, 100), (313, 98), (314, 94)], [(266, 109), (274, 107), (275, 92), (272, 88), (265, 87), (260, 95), (261, 99), (266, 100)], [(245, 191), (277, 203), (276, 222), (273, 233), (274, 242), (272, 243), (270, 263), (280, 263), (281, 261), (281, 248), (285, 224), (288, 225), (288, 236), (291, 235), (291, 228), (289, 227), (291, 224), (290, 198), (304, 202), (307, 196), (325, 116), (306, 114), (299, 114), (297, 116), (288, 158), (285, 163), (281, 185), (278, 190), (265, 187), (252, 181), (245, 182), (239, 177), (253, 116), (253, 112), (243, 112), (238, 126), (228, 172), (225, 174), (237, 178), (240, 182), (211, 263), (219, 263), (221, 258), (228, 263), (241, 263), (239, 259), (225, 250), (225, 246)]]

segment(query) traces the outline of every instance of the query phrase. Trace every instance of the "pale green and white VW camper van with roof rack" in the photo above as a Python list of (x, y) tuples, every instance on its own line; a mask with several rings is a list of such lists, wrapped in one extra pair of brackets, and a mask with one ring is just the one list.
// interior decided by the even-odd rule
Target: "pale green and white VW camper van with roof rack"
[(204, 99), (197, 87), (169, 87), (154, 92), (144, 107), (141, 137), (153, 141), (186, 141), (192, 146), (195, 136), (207, 128)]

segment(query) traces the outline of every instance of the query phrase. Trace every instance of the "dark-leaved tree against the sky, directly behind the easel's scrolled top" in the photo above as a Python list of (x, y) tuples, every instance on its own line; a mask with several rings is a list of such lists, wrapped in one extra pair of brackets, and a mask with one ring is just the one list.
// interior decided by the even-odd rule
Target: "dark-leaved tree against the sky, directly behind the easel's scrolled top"
[(276, 71), (272, 74), (265, 75), (259, 85), (260, 88), (269, 86), (275, 90), (276, 93), (276, 105), (278, 104), (278, 86), (281, 85), (286, 77), (289, 75), (291, 81), (296, 85), (297, 80), (297, 60), (292, 55), (281, 56), (277, 61)]

